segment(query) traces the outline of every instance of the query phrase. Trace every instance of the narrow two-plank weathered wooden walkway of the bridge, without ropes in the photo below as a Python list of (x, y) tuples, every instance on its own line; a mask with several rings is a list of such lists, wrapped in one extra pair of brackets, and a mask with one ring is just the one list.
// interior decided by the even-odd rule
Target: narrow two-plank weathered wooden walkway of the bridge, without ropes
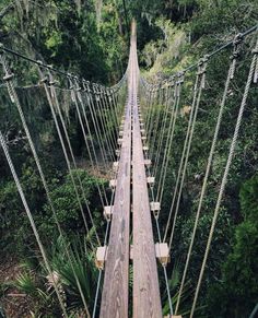
[(155, 247), (138, 113), (136, 24), (128, 67), (128, 103), (101, 304), (102, 318), (128, 317), (129, 222), (132, 151), (133, 317), (162, 318)]

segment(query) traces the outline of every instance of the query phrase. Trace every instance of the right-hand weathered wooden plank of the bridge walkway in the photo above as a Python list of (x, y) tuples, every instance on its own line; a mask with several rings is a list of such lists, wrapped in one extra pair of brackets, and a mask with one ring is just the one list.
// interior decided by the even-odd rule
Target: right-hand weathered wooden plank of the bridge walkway
[(133, 317), (162, 318), (161, 295), (157, 280), (155, 246), (151, 222), (150, 201), (137, 105), (138, 62), (136, 39), (132, 80), (132, 207), (133, 207)]

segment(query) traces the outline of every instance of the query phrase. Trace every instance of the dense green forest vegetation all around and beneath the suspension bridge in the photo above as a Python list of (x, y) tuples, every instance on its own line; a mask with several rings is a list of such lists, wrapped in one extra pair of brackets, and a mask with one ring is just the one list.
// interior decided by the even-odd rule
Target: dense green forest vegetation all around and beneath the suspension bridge
[[(132, 17), (138, 22), (138, 56), (143, 78), (149, 83), (156, 84), (169, 81), (178, 71), (198, 63), (204, 55), (234, 39), (239, 32), (256, 25), (258, 2), (255, 0), (2, 0), (0, 42), (8, 48), (35, 60), (42, 60), (59, 70), (113, 86), (122, 78), (127, 68)], [(248, 35), (243, 42), (235, 75), (226, 95), (208, 190), (178, 313), (183, 317), (189, 317), (256, 38), (257, 32)], [(167, 266), (174, 306), (178, 297), (232, 52), (230, 46), (210, 59), (207, 66), (206, 86), (197, 115), (178, 203), (171, 262)], [(1, 47), (0, 54), (3, 54)], [(47, 180), (48, 195), (56, 215), (49, 204), (15, 103), (10, 99), (10, 92), (2, 80), (4, 70), (0, 64), (0, 131), (4, 137), (52, 269), (52, 276), (49, 276), (4, 153), (0, 149), (0, 317), (61, 317), (55, 284), (63, 297), (70, 317), (85, 317), (81, 292), (92, 313), (98, 275), (95, 267), (95, 250), (99, 246), (98, 240), (104, 240), (106, 231), (99, 191), (106, 193), (107, 201), (113, 196), (108, 186), (112, 161), (107, 166), (102, 161), (103, 149), (99, 148), (99, 136), (96, 133), (94, 120), (89, 120), (86, 136), (84, 136), (77, 103), (69, 91), (69, 79), (57, 74), (54, 81), (57, 99), (61, 105), (58, 122), (62, 127), (64, 149), (69, 150), (69, 140), (72, 148), (72, 152), (68, 151), (68, 162), (71, 164), (69, 167), (38, 66), (12, 55), (3, 55), (14, 74), (17, 97)], [(195, 78), (194, 69), (186, 73), (184, 79), (160, 214), (162, 234), (166, 228), (189, 122)], [(173, 95), (173, 91), (167, 86), (164, 87), (164, 92)], [(91, 111), (97, 109), (99, 101), (97, 98), (91, 101), (89, 96), (82, 97), (82, 104), (86, 105), (85, 117), (92, 118)], [(153, 107), (154, 118), (160, 118), (160, 121), (156, 119), (156, 131), (152, 131), (153, 136), (154, 132), (160, 136), (163, 129), (165, 136), (168, 132), (168, 121), (164, 127), (161, 125), (166, 116), (164, 96), (156, 98)], [(52, 95), (51, 98), (54, 99)], [(120, 90), (117, 99), (119, 116), (125, 101), (126, 85)], [(257, 83), (253, 83), (196, 308), (195, 317), (198, 318), (249, 317), (258, 304), (257, 101)], [(102, 101), (107, 106), (106, 109), (109, 109), (113, 102), (108, 96), (104, 102)], [(148, 103), (144, 98), (142, 103), (143, 106), (148, 105), (144, 104)], [(57, 105), (55, 111), (58, 114)], [(171, 114), (171, 108), (167, 114)], [(116, 132), (116, 119), (112, 116), (107, 110), (105, 114), (107, 128), (105, 130), (99, 127), (103, 144), (106, 134), (115, 136)], [(66, 129), (69, 140), (66, 139)], [(89, 149), (90, 152), (95, 151), (99, 169), (92, 165)], [(108, 150), (104, 150), (108, 153)], [(165, 139), (160, 150), (160, 156), (163, 157)], [(115, 157), (115, 154), (108, 155)], [(155, 158), (154, 153), (152, 160)], [(162, 167), (159, 166), (157, 176), (161, 169)], [(74, 189), (74, 180), (80, 184), (78, 191)], [(92, 213), (94, 224), (89, 211)], [(85, 223), (90, 224), (90, 229), (86, 228)], [(155, 228), (154, 222), (153, 228)], [(168, 233), (171, 229), (172, 222)], [(157, 240), (155, 229), (154, 235)], [(74, 272), (79, 282), (74, 279)], [(168, 299), (161, 266), (159, 266), (159, 279), (163, 314), (168, 315)], [(129, 281), (131, 287), (132, 278)], [(97, 313), (98, 309), (99, 302)]]

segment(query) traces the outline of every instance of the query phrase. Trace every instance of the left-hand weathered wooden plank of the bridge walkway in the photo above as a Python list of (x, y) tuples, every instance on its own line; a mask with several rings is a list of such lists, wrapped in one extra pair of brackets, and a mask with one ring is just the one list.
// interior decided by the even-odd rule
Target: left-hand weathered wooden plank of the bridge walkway
[(130, 180), (131, 104), (128, 103), (118, 165), (108, 254), (105, 262), (99, 314), (99, 317), (103, 318), (128, 317)]

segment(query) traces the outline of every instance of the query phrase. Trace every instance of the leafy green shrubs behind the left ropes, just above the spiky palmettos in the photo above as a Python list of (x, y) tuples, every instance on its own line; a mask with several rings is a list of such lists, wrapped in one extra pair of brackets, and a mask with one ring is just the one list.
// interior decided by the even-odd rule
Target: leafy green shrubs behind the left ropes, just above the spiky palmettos
[[(98, 201), (96, 185), (101, 185), (103, 180), (91, 177), (82, 169), (73, 170), (72, 174), (77, 185), (79, 184), (77, 177), (78, 175), (80, 176), (85, 199), (92, 209), (96, 224), (101, 226), (104, 222), (99, 213), (101, 203)], [(46, 196), (43, 196), (45, 190), (42, 180), (32, 166), (27, 167), (24, 165), (21, 181), (42, 239), (48, 242), (49, 236), (55, 239), (55, 237), (59, 236), (56, 220), (50, 207), (46, 202)], [(84, 233), (85, 228), (71, 177), (69, 175), (64, 175), (63, 177), (57, 175), (56, 178), (54, 178), (52, 176), (49, 186), (50, 189), (52, 189), (50, 191), (50, 198), (61, 228), (67, 235), (71, 235), (74, 232)], [(80, 200), (83, 202), (83, 209), (86, 212), (85, 202), (83, 201), (84, 197), (80, 190), (79, 193)], [(13, 181), (0, 184), (0, 208), (1, 217), (3, 220), (1, 223), (1, 231), (3, 234), (1, 249), (15, 249), (21, 255), (24, 251), (28, 252), (30, 249), (34, 248), (35, 239)], [(91, 224), (89, 216), (86, 216), (86, 219), (89, 224)]]

